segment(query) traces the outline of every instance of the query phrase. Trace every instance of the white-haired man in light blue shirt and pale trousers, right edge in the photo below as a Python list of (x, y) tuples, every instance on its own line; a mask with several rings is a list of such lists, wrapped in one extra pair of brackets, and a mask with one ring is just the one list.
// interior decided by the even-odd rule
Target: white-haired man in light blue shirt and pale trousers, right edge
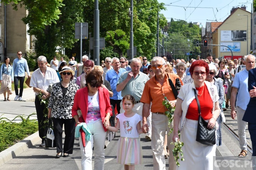
[[(238, 137), (241, 152), (238, 156), (244, 157), (247, 155), (247, 141), (245, 135), (246, 123), (243, 121), (243, 116), (247, 105), (250, 101), (248, 92), (248, 72), (255, 66), (255, 57), (253, 55), (244, 56), (245, 69), (236, 73), (232, 83), (232, 92), (230, 98), (231, 118), (236, 119), (238, 127)], [(235, 110), (235, 106), (237, 111)]]

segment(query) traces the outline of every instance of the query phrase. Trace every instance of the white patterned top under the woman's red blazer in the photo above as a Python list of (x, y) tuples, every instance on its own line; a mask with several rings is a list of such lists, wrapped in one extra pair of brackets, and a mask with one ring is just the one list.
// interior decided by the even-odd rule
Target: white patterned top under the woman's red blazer
[(94, 96), (88, 96), (88, 112), (86, 116), (86, 123), (93, 123), (94, 121), (101, 119), (99, 95), (98, 91)]

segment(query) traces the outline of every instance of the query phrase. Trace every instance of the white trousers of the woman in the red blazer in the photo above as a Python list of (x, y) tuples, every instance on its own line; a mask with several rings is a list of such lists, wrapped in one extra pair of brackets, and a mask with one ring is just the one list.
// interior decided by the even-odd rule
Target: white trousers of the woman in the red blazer
[(94, 169), (104, 169), (104, 144), (106, 139), (106, 132), (103, 129), (102, 120), (95, 121), (95, 123), (87, 124), (90, 132), (90, 141), (85, 141), (85, 148), (83, 147), (82, 139), (79, 137), (79, 144), (81, 149), (81, 165), (82, 170), (92, 170), (91, 159), (93, 157), (94, 147)]

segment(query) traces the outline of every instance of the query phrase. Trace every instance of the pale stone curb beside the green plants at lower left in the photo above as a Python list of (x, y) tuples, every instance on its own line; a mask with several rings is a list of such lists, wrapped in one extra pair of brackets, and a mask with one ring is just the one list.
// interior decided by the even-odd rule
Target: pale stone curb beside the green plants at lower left
[(11, 146), (8, 149), (0, 152), (0, 166), (7, 163), (9, 160), (15, 158), (25, 150), (31, 148), (33, 145), (41, 141), (42, 139), (39, 137), (38, 131), (33, 133), (32, 135), (26, 137), (15, 145)]

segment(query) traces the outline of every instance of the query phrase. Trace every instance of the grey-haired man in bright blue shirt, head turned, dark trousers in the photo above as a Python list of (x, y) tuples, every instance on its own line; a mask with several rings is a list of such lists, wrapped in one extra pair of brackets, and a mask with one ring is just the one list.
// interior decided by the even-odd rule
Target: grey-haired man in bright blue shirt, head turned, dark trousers
[(110, 82), (111, 88), (113, 90), (113, 97), (110, 98), (110, 104), (117, 107), (117, 113), (120, 113), (120, 102), (122, 100), (121, 92), (116, 90), (117, 81), (123, 72), (126, 72), (124, 68), (120, 68), (120, 62), (117, 57), (112, 58), (111, 63), (113, 69), (110, 69), (106, 73), (105, 80)]

